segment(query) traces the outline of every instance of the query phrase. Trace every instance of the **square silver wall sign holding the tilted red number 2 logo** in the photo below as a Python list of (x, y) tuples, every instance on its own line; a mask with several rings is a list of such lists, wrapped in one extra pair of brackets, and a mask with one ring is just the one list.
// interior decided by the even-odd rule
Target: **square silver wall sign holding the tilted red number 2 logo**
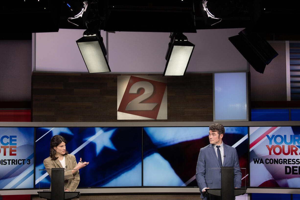
[(167, 83), (157, 76), (118, 76), (118, 120), (167, 119)]

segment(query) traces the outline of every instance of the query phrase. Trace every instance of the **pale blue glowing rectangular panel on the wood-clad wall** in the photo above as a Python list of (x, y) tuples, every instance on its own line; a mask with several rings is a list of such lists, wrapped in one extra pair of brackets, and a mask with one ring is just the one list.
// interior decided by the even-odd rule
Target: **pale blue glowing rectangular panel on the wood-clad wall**
[(214, 120), (247, 120), (246, 72), (214, 74)]

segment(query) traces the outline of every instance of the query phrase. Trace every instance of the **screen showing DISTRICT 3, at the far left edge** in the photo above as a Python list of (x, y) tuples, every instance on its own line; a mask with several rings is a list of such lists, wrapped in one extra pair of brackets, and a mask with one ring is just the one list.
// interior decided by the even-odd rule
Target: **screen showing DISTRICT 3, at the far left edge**
[(0, 127), (0, 189), (33, 188), (34, 128)]

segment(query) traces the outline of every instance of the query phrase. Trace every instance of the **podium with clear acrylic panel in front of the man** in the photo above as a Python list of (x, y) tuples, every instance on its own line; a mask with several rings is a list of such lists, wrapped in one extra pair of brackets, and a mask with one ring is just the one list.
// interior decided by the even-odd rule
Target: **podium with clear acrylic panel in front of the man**
[[(241, 185), (244, 187), (235, 188), (234, 176), (241, 174)], [(221, 167), (209, 168), (206, 192), (204, 195), (210, 199), (234, 200), (235, 196), (246, 193), (246, 168)]]

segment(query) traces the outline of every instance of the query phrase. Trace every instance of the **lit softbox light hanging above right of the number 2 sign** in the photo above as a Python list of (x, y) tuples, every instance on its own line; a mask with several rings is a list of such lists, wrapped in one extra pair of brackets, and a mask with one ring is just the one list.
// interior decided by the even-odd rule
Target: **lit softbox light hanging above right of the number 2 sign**
[(185, 35), (173, 33), (166, 54), (167, 63), (163, 76), (184, 76), (194, 47)]

